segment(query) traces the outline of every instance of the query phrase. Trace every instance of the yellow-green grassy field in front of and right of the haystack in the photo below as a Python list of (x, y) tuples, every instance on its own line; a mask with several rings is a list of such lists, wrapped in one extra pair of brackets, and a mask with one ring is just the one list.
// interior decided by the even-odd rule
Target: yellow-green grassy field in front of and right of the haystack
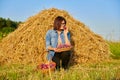
[(35, 71), (36, 65), (2, 65), (0, 80), (120, 80), (120, 42), (108, 44), (113, 53), (111, 61), (79, 64), (47, 75)]

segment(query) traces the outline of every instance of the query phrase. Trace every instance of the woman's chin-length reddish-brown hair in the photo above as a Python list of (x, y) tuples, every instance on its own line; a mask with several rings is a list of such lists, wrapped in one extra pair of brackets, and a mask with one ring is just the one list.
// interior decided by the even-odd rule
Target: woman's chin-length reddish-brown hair
[(65, 25), (66, 25), (66, 20), (65, 20), (64, 17), (58, 16), (58, 17), (55, 18), (54, 24), (53, 24), (54, 30), (59, 30), (60, 29), (62, 21), (65, 21)]

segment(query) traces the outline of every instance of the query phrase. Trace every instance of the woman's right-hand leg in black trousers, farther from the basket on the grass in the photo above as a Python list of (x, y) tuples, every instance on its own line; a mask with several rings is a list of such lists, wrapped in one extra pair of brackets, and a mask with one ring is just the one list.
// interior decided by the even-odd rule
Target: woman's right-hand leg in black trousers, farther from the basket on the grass
[(68, 63), (69, 63), (69, 60), (70, 60), (70, 54), (71, 54), (71, 51), (65, 51), (65, 52), (62, 52), (62, 54), (61, 54), (62, 67), (64, 69), (68, 68)]

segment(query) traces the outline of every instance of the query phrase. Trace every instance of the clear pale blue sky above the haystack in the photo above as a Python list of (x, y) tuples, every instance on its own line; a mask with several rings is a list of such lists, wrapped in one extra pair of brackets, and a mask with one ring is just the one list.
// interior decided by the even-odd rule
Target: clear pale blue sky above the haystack
[(120, 41), (120, 0), (0, 0), (0, 17), (25, 21), (53, 7), (66, 10), (104, 39)]

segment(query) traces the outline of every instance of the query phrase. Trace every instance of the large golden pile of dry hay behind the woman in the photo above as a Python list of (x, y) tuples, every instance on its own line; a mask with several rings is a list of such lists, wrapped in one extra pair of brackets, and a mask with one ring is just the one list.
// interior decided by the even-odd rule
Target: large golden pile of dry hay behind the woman
[(75, 20), (66, 11), (51, 8), (31, 16), (20, 24), (18, 29), (2, 39), (0, 64), (41, 62), (41, 54), (45, 51), (45, 34), (53, 27), (57, 16), (66, 18), (71, 32), (71, 42), (74, 46), (72, 64), (109, 59), (109, 48), (102, 37), (90, 31), (85, 24)]

